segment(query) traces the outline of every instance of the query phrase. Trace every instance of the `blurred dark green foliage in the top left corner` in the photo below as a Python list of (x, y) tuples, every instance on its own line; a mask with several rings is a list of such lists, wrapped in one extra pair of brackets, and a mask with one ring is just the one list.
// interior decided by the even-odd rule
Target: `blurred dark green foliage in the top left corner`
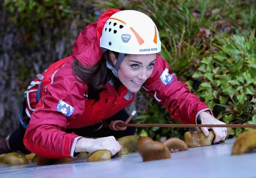
[[(22, 25), (27, 30), (38, 28), (39, 21), (46, 21), (50, 27), (59, 25), (63, 19), (71, 16), (71, 0), (5, 0), (9, 12), (13, 15), (10, 20)], [(15, 12), (19, 18), (15, 18)]]

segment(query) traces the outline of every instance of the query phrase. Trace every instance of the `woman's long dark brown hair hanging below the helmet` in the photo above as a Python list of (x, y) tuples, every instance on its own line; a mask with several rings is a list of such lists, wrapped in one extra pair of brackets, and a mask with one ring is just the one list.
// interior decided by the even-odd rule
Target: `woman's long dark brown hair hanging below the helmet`
[[(117, 58), (118, 53), (114, 51), (111, 52), (114, 53)], [(102, 92), (104, 85), (108, 83), (110, 77), (114, 77), (112, 71), (107, 67), (106, 61), (113, 65), (113, 62), (110, 59), (109, 50), (103, 53), (99, 62), (93, 66), (84, 66), (77, 59), (75, 59), (72, 64), (74, 77), (77, 81), (88, 85), (89, 99), (99, 101), (99, 93)]]

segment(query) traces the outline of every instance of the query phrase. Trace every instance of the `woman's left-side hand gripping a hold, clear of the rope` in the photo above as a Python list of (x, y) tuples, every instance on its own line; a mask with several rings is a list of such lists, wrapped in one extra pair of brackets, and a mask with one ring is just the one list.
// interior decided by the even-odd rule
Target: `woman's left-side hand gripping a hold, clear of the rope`
[(81, 138), (77, 140), (74, 152), (86, 151), (93, 153), (98, 150), (108, 150), (114, 156), (121, 149), (121, 145), (114, 136), (107, 136), (97, 139)]

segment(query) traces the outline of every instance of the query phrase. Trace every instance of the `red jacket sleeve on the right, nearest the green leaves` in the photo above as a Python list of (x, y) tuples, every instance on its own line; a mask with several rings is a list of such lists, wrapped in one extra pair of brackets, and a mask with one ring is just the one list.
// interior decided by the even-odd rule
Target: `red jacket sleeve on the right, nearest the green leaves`
[(142, 86), (149, 95), (167, 108), (173, 119), (182, 124), (196, 123), (203, 111), (212, 111), (200, 99), (189, 92), (188, 85), (177, 80), (167, 61), (157, 55), (153, 73)]

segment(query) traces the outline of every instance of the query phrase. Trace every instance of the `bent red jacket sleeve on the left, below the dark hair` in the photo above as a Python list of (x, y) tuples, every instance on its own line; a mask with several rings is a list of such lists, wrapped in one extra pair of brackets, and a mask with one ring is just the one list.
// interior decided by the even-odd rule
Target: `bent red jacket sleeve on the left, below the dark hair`
[(57, 70), (51, 80), (31, 115), (23, 141), (29, 151), (42, 157), (74, 158), (76, 142), (82, 137), (64, 131), (70, 119), (83, 113), (83, 84), (74, 78), (71, 65)]

